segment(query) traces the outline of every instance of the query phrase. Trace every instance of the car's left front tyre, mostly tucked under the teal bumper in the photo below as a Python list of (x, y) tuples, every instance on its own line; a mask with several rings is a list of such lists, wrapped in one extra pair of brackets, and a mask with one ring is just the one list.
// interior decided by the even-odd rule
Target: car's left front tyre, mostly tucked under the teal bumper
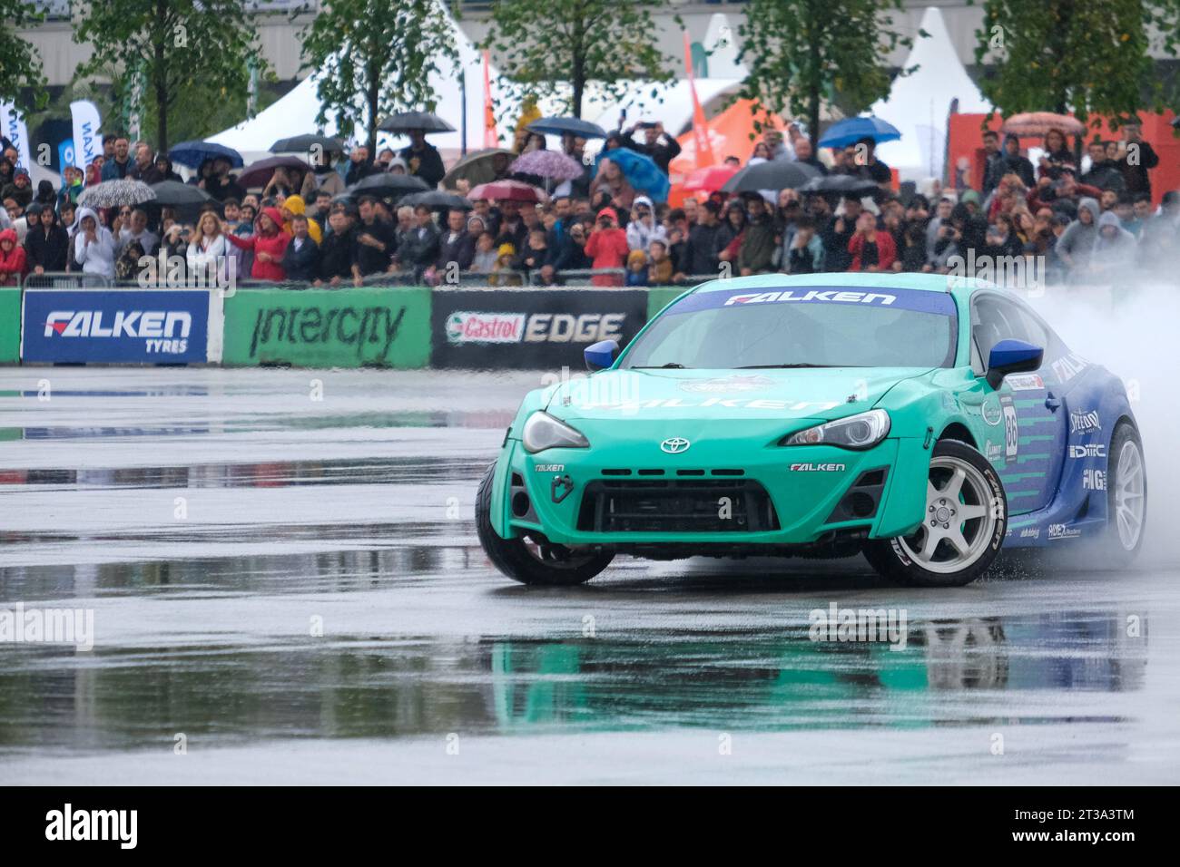
[(571, 586), (583, 584), (602, 572), (615, 559), (614, 552), (598, 547), (556, 545), (540, 533), (504, 539), (492, 526), (492, 464), (479, 482), (476, 494), (476, 532), (484, 553), (500, 572), (522, 584)]

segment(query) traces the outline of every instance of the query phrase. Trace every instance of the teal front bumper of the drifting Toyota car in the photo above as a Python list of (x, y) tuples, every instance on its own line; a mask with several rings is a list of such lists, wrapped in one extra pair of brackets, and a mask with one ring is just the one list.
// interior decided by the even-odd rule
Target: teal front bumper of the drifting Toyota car
[(563, 545), (806, 546), (835, 534), (892, 538), (923, 518), (930, 452), (920, 439), (886, 438), (864, 452), (716, 439), (677, 455), (653, 454), (650, 442), (530, 454), (507, 440), (493, 526)]

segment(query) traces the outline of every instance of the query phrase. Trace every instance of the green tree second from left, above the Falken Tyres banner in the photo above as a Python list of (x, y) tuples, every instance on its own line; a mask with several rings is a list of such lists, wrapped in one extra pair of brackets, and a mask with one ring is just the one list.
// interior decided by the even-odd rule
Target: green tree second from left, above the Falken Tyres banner
[(247, 0), (103, 0), (86, 4), (74, 41), (91, 42), (93, 58), (74, 78), (101, 74), (113, 61), (111, 98), (126, 114), (136, 100), (133, 71), (144, 81), (145, 116), (156, 146), (168, 150), (169, 118), (191, 99), (241, 99), (249, 87), (248, 58), (258, 57)]

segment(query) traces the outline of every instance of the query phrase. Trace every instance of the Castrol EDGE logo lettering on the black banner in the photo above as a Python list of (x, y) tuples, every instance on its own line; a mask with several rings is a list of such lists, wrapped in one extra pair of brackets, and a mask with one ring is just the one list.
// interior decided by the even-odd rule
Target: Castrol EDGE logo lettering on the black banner
[(457, 311), (446, 321), (451, 343), (597, 343), (622, 340), (625, 313)]

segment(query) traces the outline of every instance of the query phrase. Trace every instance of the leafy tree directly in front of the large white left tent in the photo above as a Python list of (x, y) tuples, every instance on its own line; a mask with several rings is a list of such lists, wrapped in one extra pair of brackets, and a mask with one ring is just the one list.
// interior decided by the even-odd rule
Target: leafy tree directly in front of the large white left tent
[(323, 0), (301, 34), (303, 68), (319, 77), (316, 121), (335, 116), (346, 137), (362, 130), (372, 153), (385, 116), (434, 111), (430, 74), (457, 60), (451, 34), (438, 0)]

